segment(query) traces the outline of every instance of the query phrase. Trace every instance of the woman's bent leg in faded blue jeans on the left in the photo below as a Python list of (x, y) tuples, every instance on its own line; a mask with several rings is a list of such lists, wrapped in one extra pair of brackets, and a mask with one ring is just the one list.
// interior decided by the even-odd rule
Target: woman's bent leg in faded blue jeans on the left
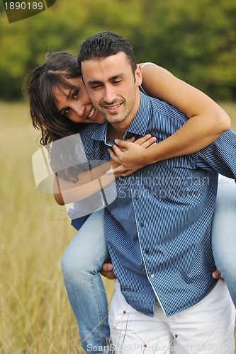
[(96, 347), (106, 346), (110, 338), (106, 292), (99, 275), (108, 258), (100, 210), (86, 220), (62, 256), (64, 284), (86, 353), (96, 353)]

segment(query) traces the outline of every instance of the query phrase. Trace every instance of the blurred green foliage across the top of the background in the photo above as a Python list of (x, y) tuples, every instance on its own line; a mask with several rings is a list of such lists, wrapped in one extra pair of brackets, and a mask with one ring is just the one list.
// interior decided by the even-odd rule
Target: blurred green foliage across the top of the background
[(24, 77), (48, 50), (77, 55), (100, 30), (128, 38), (137, 62), (155, 62), (215, 99), (236, 98), (235, 0), (57, 0), (16, 23), (2, 8), (0, 16), (0, 98), (21, 98)]

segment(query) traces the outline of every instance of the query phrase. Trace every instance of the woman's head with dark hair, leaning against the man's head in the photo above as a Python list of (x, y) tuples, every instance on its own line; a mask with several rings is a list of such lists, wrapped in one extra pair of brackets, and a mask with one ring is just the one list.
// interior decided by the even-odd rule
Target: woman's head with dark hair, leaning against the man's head
[[(77, 57), (52, 52), (26, 80), (33, 126), (42, 132), (41, 144), (76, 134), (85, 122), (103, 122), (81, 81)], [(92, 119), (91, 119), (92, 118)]]

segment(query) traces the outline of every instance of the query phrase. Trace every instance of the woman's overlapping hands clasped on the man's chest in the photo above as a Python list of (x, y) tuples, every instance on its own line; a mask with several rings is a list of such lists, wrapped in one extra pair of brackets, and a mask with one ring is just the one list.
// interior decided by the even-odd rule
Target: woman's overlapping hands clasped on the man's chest
[[(122, 176), (129, 176), (134, 171), (141, 169), (147, 165), (146, 149), (156, 144), (157, 138), (148, 134), (135, 142), (130, 142), (130, 139), (124, 141), (116, 139), (116, 145), (112, 149), (108, 149), (111, 159), (118, 166), (113, 169), (113, 173), (122, 173)], [(125, 171), (124, 171), (125, 170)]]

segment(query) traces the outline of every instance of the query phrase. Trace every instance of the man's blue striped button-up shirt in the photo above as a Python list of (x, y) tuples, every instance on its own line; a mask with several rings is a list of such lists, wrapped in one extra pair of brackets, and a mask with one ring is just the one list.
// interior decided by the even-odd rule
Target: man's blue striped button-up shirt
[[(161, 142), (186, 120), (172, 105), (141, 93), (124, 139), (150, 133)], [(109, 159), (107, 147), (113, 142), (106, 142), (106, 127), (93, 125), (82, 133), (91, 161)], [(114, 272), (137, 311), (153, 316), (157, 299), (171, 316), (215, 286), (210, 225), (218, 173), (235, 178), (235, 156), (236, 135), (228, 130), (200, 152), (145, 166), (104, 188), (106, 195), (117, 193), (104, 219)]]

